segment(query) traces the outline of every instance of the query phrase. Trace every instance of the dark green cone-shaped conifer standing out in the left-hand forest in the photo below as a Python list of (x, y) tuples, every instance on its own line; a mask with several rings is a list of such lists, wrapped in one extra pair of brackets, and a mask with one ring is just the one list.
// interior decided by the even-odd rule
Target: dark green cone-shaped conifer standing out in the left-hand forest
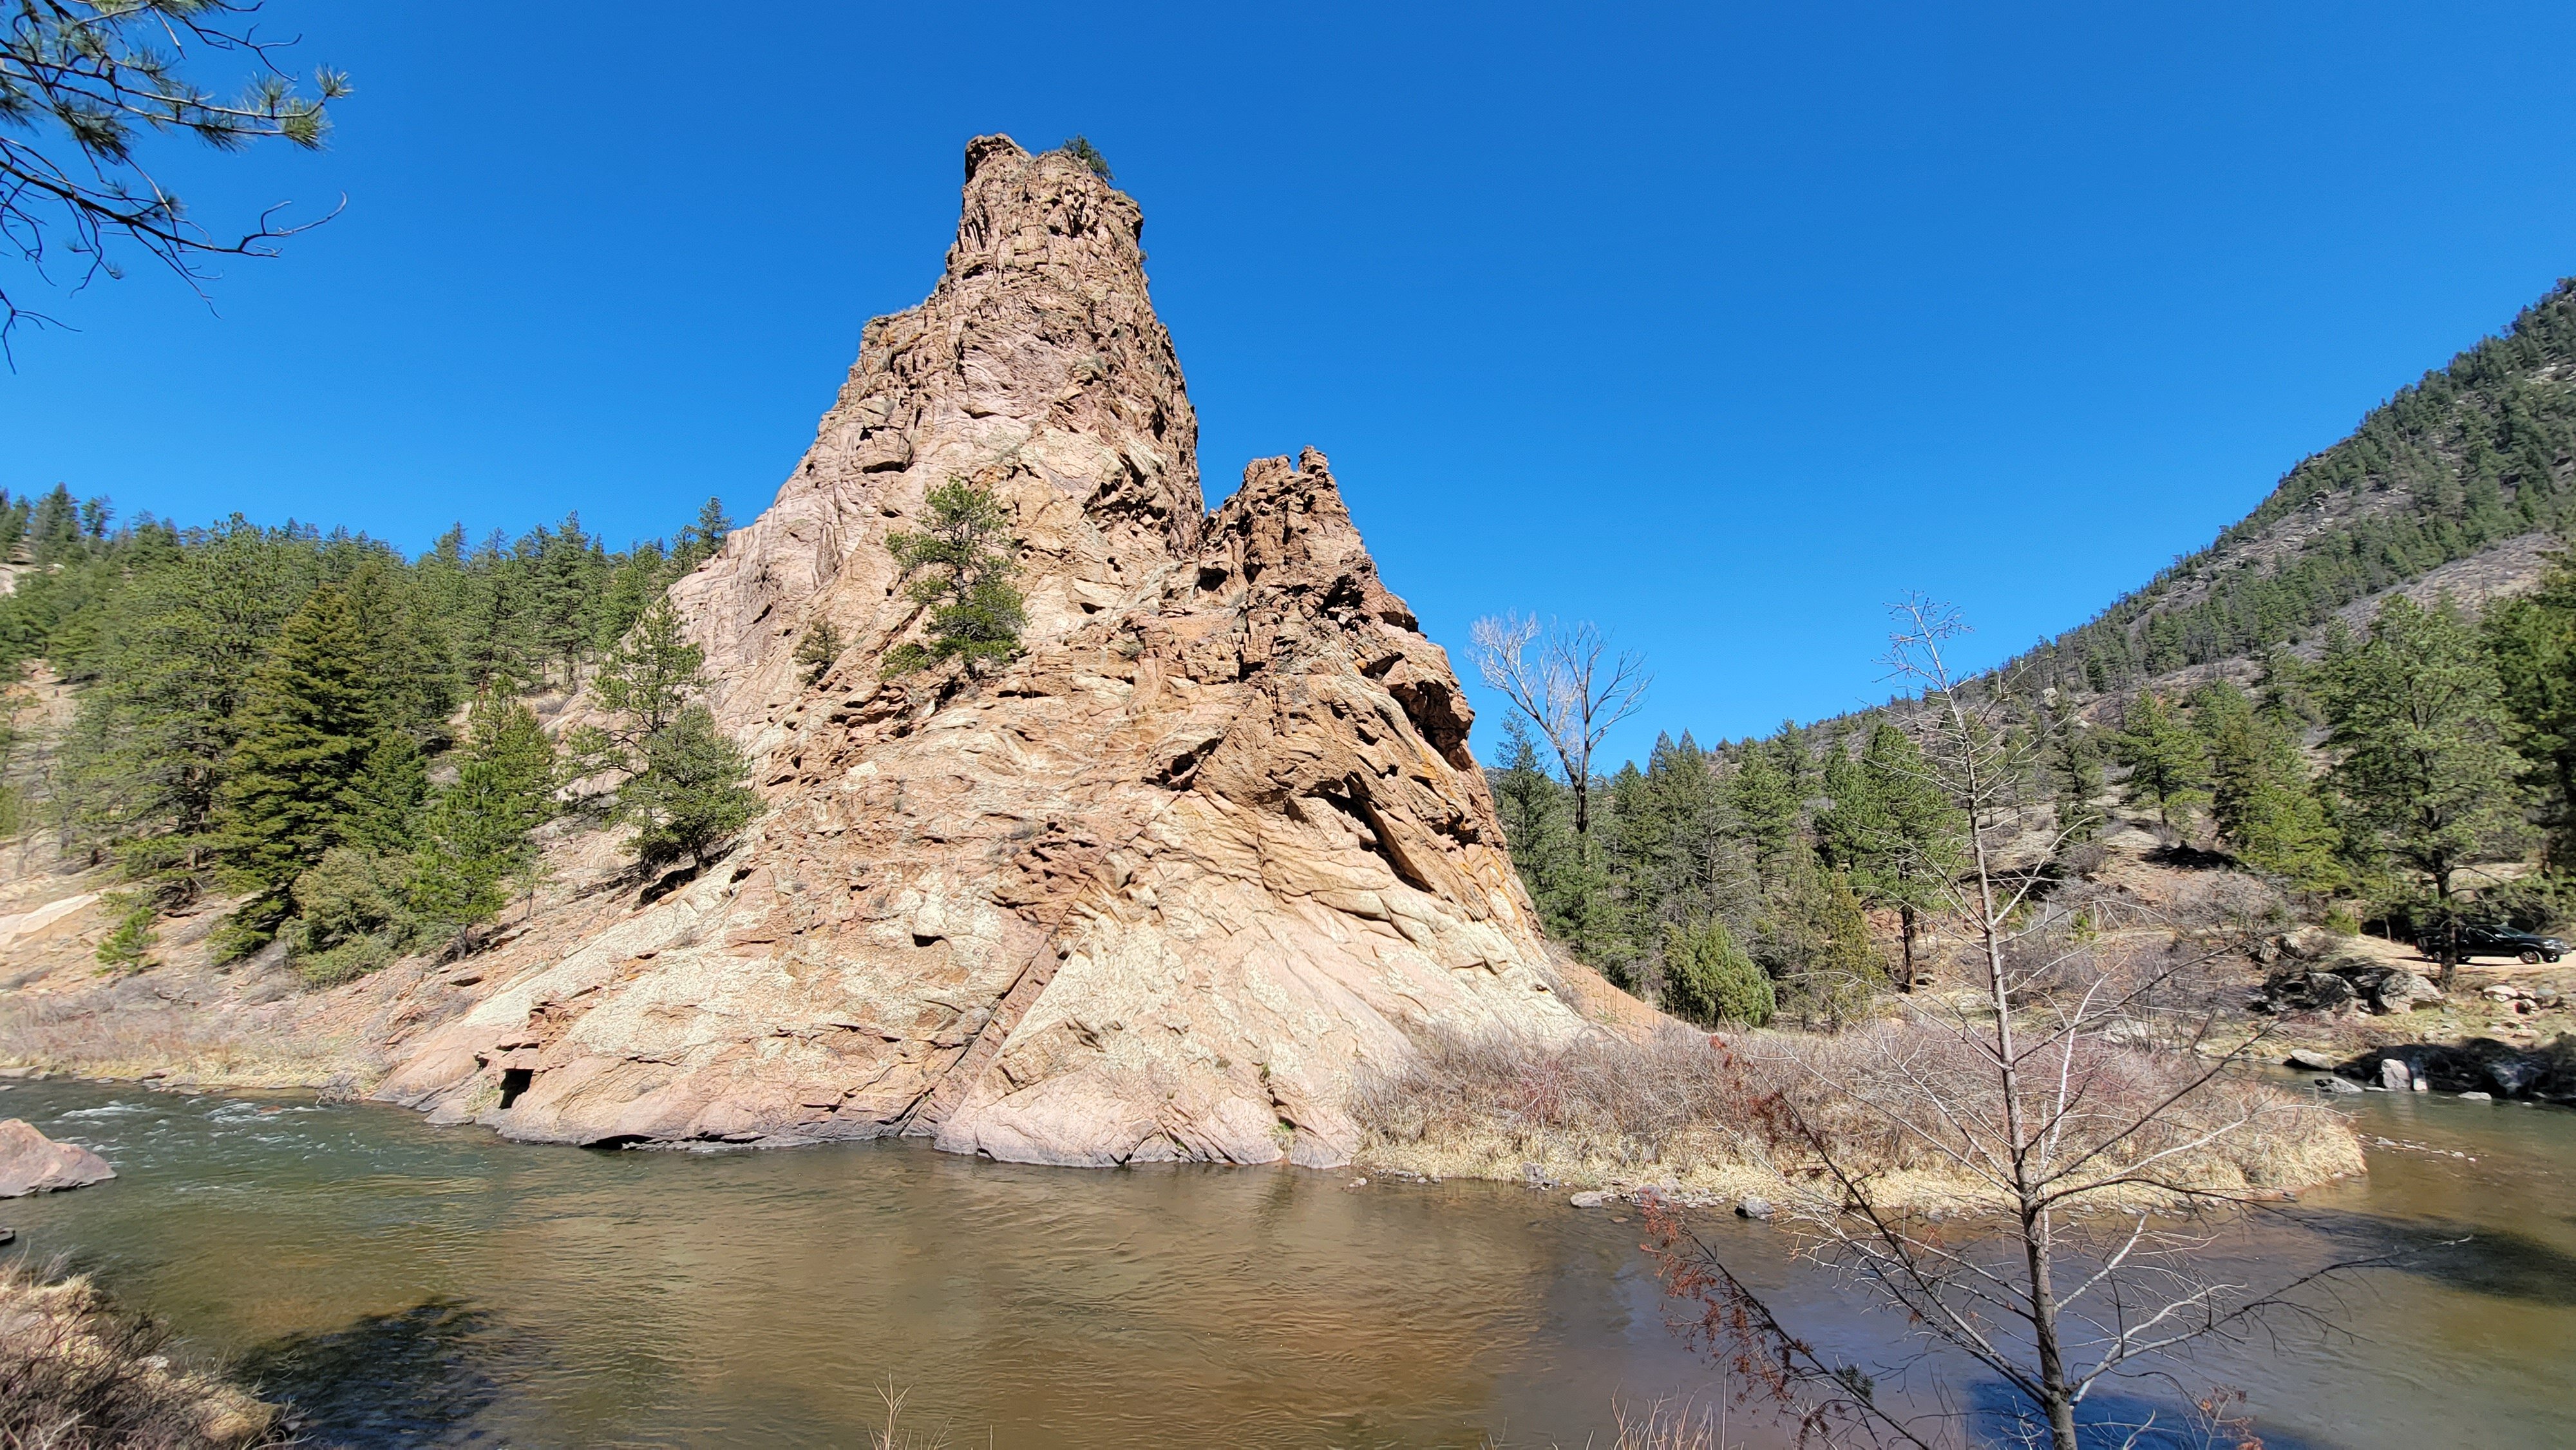
[(348, 791), (381, 721), (371, 644), (348, 590), (322, 585), (250, 683), (216, 824), (227, 873), (250, 891), (229, 953), (265, 945), (296, 876), (343, 840)]

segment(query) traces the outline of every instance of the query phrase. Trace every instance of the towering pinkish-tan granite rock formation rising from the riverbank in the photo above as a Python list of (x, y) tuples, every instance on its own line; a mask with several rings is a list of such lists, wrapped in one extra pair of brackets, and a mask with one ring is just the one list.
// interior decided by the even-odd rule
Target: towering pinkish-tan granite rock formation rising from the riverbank
[[(770, 811), (701, 878), (500, 948), (384, 1097), (582, 1144), (1334, 1164), (1352, 1082), (1417, 1033), (1587, 1030), (1448, 657), (1324, 456), (1206, 513), (1139, 232), (1069, 157), (966, 149), (938, 288), (868, 325), (778, 502), (672, 590)], [(920, 618), (884, 541), (948, 479), (1015, 515), (1025, 652), (886, 683)], [(853, 646), (806, 688), (814, 621)]]

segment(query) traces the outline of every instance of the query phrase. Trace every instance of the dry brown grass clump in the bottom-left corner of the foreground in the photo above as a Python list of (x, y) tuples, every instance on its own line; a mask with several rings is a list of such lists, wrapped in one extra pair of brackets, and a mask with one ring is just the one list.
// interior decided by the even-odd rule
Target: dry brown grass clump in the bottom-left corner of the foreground
[(289, 1445), (276, 1406), (173, 1365), (170, 1332), (85, 1277), (0, 1267), (0, 1450)]

